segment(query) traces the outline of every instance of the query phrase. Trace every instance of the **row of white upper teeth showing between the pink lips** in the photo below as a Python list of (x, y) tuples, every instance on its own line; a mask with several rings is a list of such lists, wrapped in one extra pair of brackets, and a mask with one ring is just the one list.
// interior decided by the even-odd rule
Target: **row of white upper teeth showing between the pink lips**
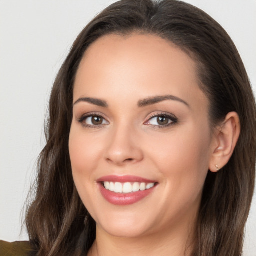
[(104, 181), (104, 187), (107, 190), (114, 191), (115, 193), (131, 193), (137, 191), (143, 191), (153, 187), (155, 183), (145, 183), (145, 182), (130, 182), (120, 183), (120, 182), (108, 182)]

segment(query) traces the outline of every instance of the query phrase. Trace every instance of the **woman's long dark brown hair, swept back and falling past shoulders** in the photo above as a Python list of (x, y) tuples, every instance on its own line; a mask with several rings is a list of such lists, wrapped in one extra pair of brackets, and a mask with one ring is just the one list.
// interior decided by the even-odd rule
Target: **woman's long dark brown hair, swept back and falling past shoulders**
[[(98, 14), (78, 35), (54, 82), (46, 145), (38, 160), (35, 199), (26, 225), (37, 255), (80, 255), (95, 239), (95, 221), (72, 179), (68, 136), (73, 83), (87, 47), (102, 35), (132, 32), (171, 41), (197, 63), (200, 88), (210, 101), (212, 126), (230, 111), (241, 133), (229, 162), (209, 172), (198, 212), (193, 256), (240, 256), (255, 179), (256, 107), (242, 60), (224, 29), (202, 10), (175, 0), (121, 0)], [(171, 253), (170, 253), (171, 254)]]

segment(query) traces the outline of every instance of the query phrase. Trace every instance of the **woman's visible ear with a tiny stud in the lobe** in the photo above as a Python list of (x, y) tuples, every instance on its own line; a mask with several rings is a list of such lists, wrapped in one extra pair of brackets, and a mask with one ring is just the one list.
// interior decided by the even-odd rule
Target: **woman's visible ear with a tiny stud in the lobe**
[(229, 112), (215, 128), (209, 170), (217, 172), (229, 161), (240, 134), (240, 121), (236, 112)]

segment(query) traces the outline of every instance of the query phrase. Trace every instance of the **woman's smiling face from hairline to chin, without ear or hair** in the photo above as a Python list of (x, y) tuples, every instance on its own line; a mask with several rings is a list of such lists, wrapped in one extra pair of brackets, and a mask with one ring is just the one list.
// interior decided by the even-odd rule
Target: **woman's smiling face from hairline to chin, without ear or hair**
[(69, 153), (97, 230), (137, 237), (187, 232), (195, 221), (214, 139), (198, 83), (195, 62), (157, 36), (90, 45), (74, 83)]

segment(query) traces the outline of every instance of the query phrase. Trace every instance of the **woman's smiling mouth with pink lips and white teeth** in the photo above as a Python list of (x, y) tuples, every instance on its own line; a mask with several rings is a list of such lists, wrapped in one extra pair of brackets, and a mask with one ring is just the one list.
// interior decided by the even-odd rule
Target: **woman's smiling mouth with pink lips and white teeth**
[(153, 192), (158, 184), (154, 180), (129, 175), (109, 175), (99, 178), (97, 183), (104, 199), (114, 205), (136, 203)]

